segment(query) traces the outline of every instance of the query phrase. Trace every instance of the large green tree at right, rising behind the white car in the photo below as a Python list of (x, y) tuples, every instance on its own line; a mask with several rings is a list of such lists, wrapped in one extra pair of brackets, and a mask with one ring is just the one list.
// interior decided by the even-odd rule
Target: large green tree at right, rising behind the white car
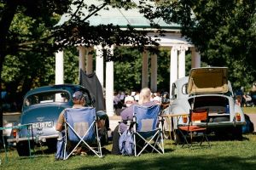
[[(181, 24), (183, 36), (195, 44), (208, 65), (228, 66), (235, 88), (256, 78), (255, 1), (160, 1), (157, 16)], [(166, 8), (167, 7), (167, 8)]]

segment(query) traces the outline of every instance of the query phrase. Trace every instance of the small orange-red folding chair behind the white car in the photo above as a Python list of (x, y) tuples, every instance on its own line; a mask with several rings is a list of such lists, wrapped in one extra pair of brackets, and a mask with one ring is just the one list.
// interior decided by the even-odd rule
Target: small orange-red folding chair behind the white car
[[(189, 124), (186, 126), (177, 125), (177, 129), (183, 136), (184, 144), (192, 146), (193, 137), (201, 136), (200, 146), (203, 141), (207, 141), (207, 144), (211, 146), (207, 139), (207, 127), (208, 127), (208, 109), (190, 110), (189, 111)], [(188, 140), (189, 139), (189, 140)]]

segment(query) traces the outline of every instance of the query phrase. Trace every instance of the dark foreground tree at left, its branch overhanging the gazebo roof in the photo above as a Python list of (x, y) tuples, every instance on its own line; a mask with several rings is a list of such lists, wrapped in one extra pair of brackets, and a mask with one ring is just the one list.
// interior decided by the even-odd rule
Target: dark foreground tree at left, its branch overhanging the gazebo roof
[[(151, 38), (145, 37), (146, 32), (136, 31), (131, 26), (128, 26), (126, 31), (122, 31), (119, 26), (90, 26), (85, 19), (90, 18), (97, 11), (106, 9), (108, 4), (114, 8), (132, 8), (135, 3), (130, 0), (102, 0), (101, 5), (95, 6), (94, 4), (87, 5), (90, 1), (85, 0), (1, 0), (0, 1), (0, 92), (2, 91), (2, 71), (3, 63), (7, 56), (16, 56), (21, 59), (31, 60), (32, 51), (42, 53), (44, 57), (47, 54), (52, 54), (56, 50), (66, 48), (67, 46), (74, 46), (83, 44), (85, 46), (102, 44), (103, 47), (115, 44), (136, 44), (141, 50), (145, 45), (153, 44)], [(150, 10), (145, 0), (140, 0), (137, 8), (140, 12), (150, 19)], [(77, 6), (77, 11), (72, 12), (71, 4)], [(90, 13), (84, 15), (81, 13), (81, 8), (85, 8)], [(62, 26), (53, 25), (53, 19), (56, 14), (70, 13), (72, 18)], [(10, 29), (15, 19), (15, 14), (23, 14), (24, 16), (31, 17), (32, 27), (31, 34), (20, 34), (15, 31), (15, 28)], [(149, 14), (149, 15), (148, 15)], [(83, 19), (81, 18), (83, 16)], [(151, 20), (152, 21), (152, 20)], [(38, 34), (37, 27), (44, 24), (45, 29), (52, 29), (50, 34)], [(152, 26), (154, 22), (152, 22)], [(26, 30), (26, 29), (25, 29)], [(85, 33), (84, 33), (85, 31)], [(22, 32), (24, 33), (24, 32)], [(96, 38), (97, 37), (97, 38)], [(55, 39), (54, 39), (55, 38)], [(54, 43), (58, 42), (58, 43)], [(21, 54), (21, 53), (24, 54)], [(20, 55), (21, 54), (21, 55)], [(106, 59), (113, 59), (113, 56), (108, 55), (108, 50), (105, 50)], [(34, 56), (35, 57), (35, 56)], [(34, 59), (38, 59), (36, 56)], [(43, 58), (44, 58), (43, 57)], [(14, 60), (14, 59), (10, 59)], [(31, 64), (31, 63), (27, 63)], [(11, 66), (11, 65), (10, 65)], [(33, 74), (33, 73), (32, 73)], [(31, 79), (35, 81), (35, 79)], [(29, 81), (25, 81), (27, 83)], [(32, 82), (30, 82), (32, 83)], [(28, 85), (29, 87), (30, 85)], [(0, 127), (3, 126), (3, 111), (2, 99), (0, 99)]]

